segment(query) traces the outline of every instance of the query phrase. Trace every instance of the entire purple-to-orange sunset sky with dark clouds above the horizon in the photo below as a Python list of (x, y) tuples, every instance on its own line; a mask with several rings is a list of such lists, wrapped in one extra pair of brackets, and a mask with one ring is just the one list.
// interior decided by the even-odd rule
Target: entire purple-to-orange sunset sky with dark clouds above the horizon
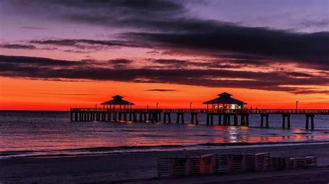
[(0, 1), (0, 109), (122, 95), (204, 108), (329, 109), (329, 0)]

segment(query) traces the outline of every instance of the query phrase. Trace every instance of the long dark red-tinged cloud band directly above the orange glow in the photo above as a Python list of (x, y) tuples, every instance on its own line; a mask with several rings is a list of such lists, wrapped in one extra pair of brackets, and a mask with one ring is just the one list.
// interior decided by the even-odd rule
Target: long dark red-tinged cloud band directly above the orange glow
[[(73, 62), (39, 57), (1, 56), (0, 75), (6, 77), (38, 78), (40, 80), (66, 79), (156, 82), (208, 87), (289, 91), (293, 93), (297, 93), (296, 91), (301, 93), (301, 91), (310, 90), (293, 86), (329, 84), (328, 76), (312, 76), (307, 80), (300, 80), (296, 79), (296, 77), (290, 77), (292, 73), (281, 71), (252, 72), (188, 68), (104, 68), (102, 65), (93, 65), (92, 62), (89, 60)], [(224, 80), (228, 78), (230, 80)]]

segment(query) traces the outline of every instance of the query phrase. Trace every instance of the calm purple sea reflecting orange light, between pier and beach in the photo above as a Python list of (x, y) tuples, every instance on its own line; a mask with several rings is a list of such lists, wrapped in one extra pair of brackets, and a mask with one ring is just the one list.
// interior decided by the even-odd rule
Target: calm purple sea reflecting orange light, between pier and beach
[[(270, 115), (270, 128), (260, 128), (251, 115), (250, 127), (207, 126), (161, 122), (70, 122), (67, 111), (0, 111), (0, 158), (67, 156), (129, 151), (212, 149), (287, 142), (329, 141), (329, 116), (315, 116), (314, 131), (305, 130), (305, 116), (292, 115), (291, 129), (282, 129), (282, 116)], [(231, 123), (232, 123), (231, 118)], [(214, 118), (214, 122), (218, 122)]]

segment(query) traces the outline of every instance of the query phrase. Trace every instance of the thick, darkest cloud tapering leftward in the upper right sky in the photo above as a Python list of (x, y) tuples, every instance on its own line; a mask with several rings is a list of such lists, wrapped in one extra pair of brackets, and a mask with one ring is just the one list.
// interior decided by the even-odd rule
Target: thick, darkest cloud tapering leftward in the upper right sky
[(203, 50), (208, 54), (225, 50), (329, 68), (329, 33), (301, 34), (221, 24), (208, 26), (210, 28), (203, 25), (204, 30), (190, 30), (190, 33), (129, 33), (126, 37), (166, 49)]

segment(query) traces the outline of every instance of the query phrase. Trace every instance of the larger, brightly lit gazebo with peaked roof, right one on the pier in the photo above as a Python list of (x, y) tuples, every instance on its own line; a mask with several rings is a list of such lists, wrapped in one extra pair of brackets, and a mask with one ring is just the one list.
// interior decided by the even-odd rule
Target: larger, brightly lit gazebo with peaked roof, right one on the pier
[(211, 105), (212, 111), (214, 111), (214, 109), (217, 109), (217, 111), (219, 111), (219, 109), (244, 109), (244, 104), (246, 104), (246, 102), (231, 98), (232, 95), (226, 92), (218, 96), (218, 98), (203, 102), (203, 104), (207, 104), (207, 110), (209, 109), (209, 104)]

